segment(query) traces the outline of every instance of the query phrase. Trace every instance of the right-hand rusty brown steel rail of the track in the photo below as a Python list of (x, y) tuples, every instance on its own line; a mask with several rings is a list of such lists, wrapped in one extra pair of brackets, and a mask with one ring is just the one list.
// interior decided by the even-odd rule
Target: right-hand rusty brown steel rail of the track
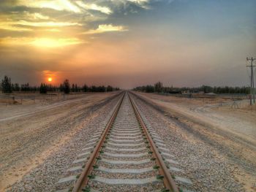
[[(129, 93), (128, 93), (128, 96), (129, 96)], [(174, 182), (172, 176), (170, 175), (170, 170), (167, 169), (167, 166), (165, 165), (165, 162), (163, 161), (162, 156), (160, 155), (160, 153), (157, 150), (157, 146), (154, 144), (153, 139), (151, 138), (150, 134), (148, 133), (146, 125), (143, 122), (143, 119), (141, 118), (140, 113), (139, 113), (134, 101), (132, 101), (130, 96), (129, 96), (129, 101), (131, 101), (131, 103), (132, 103), (132, 108), (135, 111), (135, 115), (138, 118), (138, 121), (139, 121), (141, 127), (143, 128), (144, 133), (146, 134), (146, 138), (149, 141), (149, 145), (151, 146), (151, 149), (153, 150), (152, 155), (154, 158), (156, 158), (156, 164), (159, 166), (159, 174), (164, 176), (163, 182), (164, 182), (165, 188), (169, 191), (178, 192), (178, 187), (177, 187), (176, 183)]]

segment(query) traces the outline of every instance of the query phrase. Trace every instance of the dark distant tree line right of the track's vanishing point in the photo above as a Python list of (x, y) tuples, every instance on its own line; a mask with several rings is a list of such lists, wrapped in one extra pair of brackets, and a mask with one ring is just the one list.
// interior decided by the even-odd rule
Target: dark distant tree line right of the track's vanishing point
[(162, 85), (162, 82), (157, 82), (154, 85), (143, 85), (133, 88), (134, 91), (142, 91), (146, 93), (182, 93), (183, 91), (189, 91), (189, 93), (216, 93), (216, 94), (249, 94), (250, 88), (249, 87), (230, 87), (230, 86), (208, 86), (202, 85), (198, 88), (175, 88), (165, 87)]

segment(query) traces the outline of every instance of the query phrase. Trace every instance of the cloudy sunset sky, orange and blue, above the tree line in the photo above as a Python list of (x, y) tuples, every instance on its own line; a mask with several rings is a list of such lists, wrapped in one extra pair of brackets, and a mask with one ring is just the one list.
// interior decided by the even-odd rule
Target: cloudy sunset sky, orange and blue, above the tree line
[(1, 0), (0, 79), (249, 85), (255, 0)]

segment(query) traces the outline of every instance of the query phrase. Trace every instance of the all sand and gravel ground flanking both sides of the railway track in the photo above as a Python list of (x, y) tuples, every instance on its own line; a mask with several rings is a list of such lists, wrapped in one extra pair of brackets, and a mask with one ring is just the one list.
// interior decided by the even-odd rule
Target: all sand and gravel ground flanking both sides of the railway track
[[(54, 191), (120, 92), (45, 96), (0, 105), (0, 191)], [(256, 109), (248, 101), (133, 92), (192, 191), (256, 191)], [(16, 99), (18, 96), (16, 97)]]

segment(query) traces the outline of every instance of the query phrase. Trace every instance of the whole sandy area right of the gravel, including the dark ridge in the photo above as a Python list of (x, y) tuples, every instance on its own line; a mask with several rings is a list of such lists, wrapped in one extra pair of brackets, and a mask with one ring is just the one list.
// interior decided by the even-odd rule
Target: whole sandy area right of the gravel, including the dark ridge
[(196, 136), (225, 155), (226, 161), (237, 170), (236, 180), (243, 183), (246, 191), (256, 191), (256, 110), (249, 107), (249, 101), (238, 101), (239, 108), (234, 109), (233, 101), (228, 99), (222, 100), (219, 106), (219, 99), (138, 94), (165, 115), (178, 120), (188, 132), (187, 139)]

